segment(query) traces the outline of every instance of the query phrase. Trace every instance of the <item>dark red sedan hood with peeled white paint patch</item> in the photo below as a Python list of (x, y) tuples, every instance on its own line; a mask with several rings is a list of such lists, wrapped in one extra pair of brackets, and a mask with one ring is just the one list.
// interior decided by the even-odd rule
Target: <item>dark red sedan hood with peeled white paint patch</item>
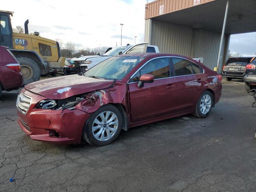
[(64, 99), (74, 95), (108, 88), (112, 84), (112, 80), (69, 75), (30, 83), (25, 86), (25, 89), (48, 99)]

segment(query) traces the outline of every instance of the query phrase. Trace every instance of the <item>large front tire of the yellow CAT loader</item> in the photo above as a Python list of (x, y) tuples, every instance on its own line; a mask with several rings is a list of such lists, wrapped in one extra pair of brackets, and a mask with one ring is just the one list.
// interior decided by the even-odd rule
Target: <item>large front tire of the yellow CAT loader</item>
[(27, 57), (18, 57), (17, 60), (20, 62), (25, 85), (40, 79), (41, 70), (34, 60)]

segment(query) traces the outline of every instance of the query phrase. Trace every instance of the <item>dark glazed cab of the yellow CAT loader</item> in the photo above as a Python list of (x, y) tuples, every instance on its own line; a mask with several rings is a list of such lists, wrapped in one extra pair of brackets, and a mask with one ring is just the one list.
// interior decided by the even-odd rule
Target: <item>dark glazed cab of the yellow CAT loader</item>
[(0, 10), (0, 45), (9, 48), (12, 48), (12, 14), (13, 12)]

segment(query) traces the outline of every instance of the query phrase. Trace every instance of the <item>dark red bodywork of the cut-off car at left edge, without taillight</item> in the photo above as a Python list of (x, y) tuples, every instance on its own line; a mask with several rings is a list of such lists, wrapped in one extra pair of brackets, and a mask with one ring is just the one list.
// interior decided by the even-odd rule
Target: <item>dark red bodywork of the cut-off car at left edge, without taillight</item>
[(13, 90), (23, 85), (23, 76), (21, 72), (16, 72), (6, 65), (19, 64), (6, 47), (0, 46), (0, 86), (2, 90)]

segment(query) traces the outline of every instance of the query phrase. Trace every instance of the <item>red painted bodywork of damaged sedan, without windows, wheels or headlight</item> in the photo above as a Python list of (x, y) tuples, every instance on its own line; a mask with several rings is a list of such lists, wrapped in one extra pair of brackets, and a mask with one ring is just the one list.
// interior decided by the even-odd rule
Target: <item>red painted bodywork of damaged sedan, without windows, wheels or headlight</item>
[[(20, 127), (35, 140), (62, 144), (79, 143), (86, 121), (105, 104), (114, 104), (120, 110), (124, 109), (123, 129), (128, 130), (130, 127), (194, 112), (196, 102), (204, 90), (214, 94), (214, 104), (220, 100), (222, 85), (217, 72), (199, 62), (173, 54), (135, 55), (144, 59), (122, 80), (116, 80), (115, 83), (112, 80), (72, 75), (25, 86), (22, 93), (32, 100), (26, 114), (18, 110)], [(158, 79), (153, 83), (144, 83), (143, 88), (138, 88), (138, 83), (128, 84), (130, 77), (140, 66), (152, 58), (162, 56), (186, 58), (201, 66), (204, 73)], [(41, 100), (64, 99), (80, 94), (86, 97), (73, 110), (36, 109)], [(24, 126), (24, 122), (30, 130)], [(50, 136), (51, 130), (58, 132), (59, 136)]]

